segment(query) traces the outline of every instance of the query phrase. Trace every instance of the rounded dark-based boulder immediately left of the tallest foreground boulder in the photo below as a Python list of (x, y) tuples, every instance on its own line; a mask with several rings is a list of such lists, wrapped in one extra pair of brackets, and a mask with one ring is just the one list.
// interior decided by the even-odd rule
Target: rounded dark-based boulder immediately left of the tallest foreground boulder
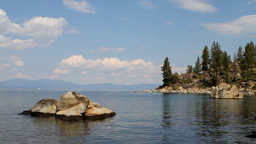
[(31, 116), (47, 117), (54, 116), (56, 112), (57, 101), (51, 98), (40, 100), (31, 109)]

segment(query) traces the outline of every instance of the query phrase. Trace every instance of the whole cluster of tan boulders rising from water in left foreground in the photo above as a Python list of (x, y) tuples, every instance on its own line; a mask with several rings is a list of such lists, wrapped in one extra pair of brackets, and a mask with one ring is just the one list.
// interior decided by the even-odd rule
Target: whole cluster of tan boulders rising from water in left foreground
[(112, 110), (76, 92), (63, 94), (58, 101), (50, 98), (40, 100), (33, 108), (20, 114), (37, 117), (55, 116), (60, 120), (102, 120), (116, 115)]

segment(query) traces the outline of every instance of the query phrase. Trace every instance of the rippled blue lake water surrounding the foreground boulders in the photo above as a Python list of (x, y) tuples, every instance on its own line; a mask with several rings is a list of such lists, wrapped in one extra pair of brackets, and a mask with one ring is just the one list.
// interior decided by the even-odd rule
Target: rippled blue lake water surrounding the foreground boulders
[[(101, 121), (67, 122), (18, 113), (44, 98), (74, 91), (116, 112)], [(0, 89), (0, 143), (255, 144), (256, 96), (210, 99), (209, 94), (118, 90)]]

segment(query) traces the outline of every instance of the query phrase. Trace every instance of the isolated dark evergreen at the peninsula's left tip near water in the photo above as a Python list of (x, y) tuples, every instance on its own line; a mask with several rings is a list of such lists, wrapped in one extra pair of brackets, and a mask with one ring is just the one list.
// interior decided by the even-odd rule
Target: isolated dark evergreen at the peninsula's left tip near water
[(170, 86), (172, 81), (172, 66), (170, 66), (170, 62), (168, 57), (165, 58), (163, 66), (161, 66), (162, 75), (163, 75), (163, 86)]

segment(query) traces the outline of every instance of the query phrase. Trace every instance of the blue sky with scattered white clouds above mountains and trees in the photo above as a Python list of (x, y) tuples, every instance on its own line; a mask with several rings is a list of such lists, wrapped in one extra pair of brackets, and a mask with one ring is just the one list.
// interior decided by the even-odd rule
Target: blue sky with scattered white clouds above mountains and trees
[(204, 46), (256, 43), (256, 0), (2, 0), (0, 81), (162, 84)]

